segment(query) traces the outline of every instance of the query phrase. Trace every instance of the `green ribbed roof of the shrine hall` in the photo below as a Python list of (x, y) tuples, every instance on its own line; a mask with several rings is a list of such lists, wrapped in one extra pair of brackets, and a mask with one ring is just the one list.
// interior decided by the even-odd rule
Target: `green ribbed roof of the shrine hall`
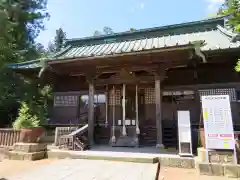
[[(170, 47), (191, 45), (195, 41), (204, 41), (201, 51), (240, 48), (239, 35), (224, 27), (223, 18), (184, 23), (125, 32), (100, 37), (68, 40), (61, 52), (48, 58), (48, 61), (89, 57), (99, 58), (120, 54), (139, 53)], [(12, 68), (37, 68), (39, 63), (9, 65)], [(35, 64), (35, 65), (34, 65)]]

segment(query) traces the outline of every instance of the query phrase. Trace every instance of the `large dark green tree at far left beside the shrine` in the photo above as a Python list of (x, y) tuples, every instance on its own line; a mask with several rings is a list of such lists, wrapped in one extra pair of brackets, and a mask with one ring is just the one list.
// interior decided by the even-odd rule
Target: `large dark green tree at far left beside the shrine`
[[(25, 79), (7, 68), (7, 64), (41, 56), (35, 38), (48, 18), (46, 0), (0, 0), (0, 109), (9, 116), (13, 107), (27, 96)], [(25, 92), (25, 93), (23, 93)], [(2, 119), (7, 118), (1, 116)]]

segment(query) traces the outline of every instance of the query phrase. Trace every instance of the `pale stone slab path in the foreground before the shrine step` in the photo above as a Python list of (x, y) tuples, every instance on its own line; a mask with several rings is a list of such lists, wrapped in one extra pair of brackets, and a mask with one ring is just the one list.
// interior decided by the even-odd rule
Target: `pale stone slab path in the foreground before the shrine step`
[(155, 180), (157, 164), (64, 159), (7, 180)]

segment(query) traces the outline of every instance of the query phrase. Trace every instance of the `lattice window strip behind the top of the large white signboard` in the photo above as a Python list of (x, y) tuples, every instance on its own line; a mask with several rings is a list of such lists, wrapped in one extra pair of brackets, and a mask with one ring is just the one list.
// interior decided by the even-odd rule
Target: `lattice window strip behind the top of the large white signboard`
[(210, 95), (229, 95), (230, 101), (236, 101), (236, 91), (234, 88), (223, 88), (223, 89), (202, 89), (199, 90), (200, 97)]

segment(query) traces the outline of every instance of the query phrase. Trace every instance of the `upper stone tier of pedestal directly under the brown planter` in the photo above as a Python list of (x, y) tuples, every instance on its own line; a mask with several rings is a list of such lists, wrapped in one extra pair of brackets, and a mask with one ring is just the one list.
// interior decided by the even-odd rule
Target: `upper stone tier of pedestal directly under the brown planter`
[(13, 146), (13, 151), (17, 152), (41, 152), (46, 151), (47, 145), (44, 143), (15, 143)]

